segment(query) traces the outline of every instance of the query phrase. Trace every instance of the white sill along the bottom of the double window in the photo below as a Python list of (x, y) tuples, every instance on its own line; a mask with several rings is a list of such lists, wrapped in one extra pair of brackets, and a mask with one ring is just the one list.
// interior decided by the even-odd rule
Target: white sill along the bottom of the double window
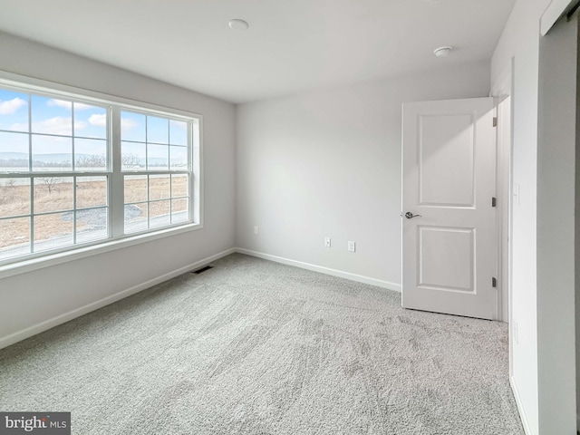
[(203, 228), (201, 224), (195, 223), (183, 225), (180, 227), (170, 227), (146, 234), (122, 237), (116, 240), (110, 240), (96, 245), (91, 245), (89, 247), (79, 247), (69, 251), (47, 254), (37, 258), (18, 261), (9, 265), (0, 266), (0, 279), (6, 278), (8, 276), (25, 274), (27, 272), (32, 272), (44, 267), (56, 266), (62, 263), (79, 260), (81, 258), (86, 258), (87, 256), (98, 256), (100, 254), (115, 251), (117, 249), (132, 247), (134, 245), (140, 245), (141, 243), (150, 242), (163, 237), (176, 236), (178, 234), (195, 231), (201, 228)]

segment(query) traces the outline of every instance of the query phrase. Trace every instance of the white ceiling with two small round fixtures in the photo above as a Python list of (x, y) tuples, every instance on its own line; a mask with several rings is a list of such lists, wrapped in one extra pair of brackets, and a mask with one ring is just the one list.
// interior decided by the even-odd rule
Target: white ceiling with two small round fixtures
[[(227, 102), (488, 61), (515, 0), (2, 0), (0, 30)], [(232, 30), (232, 18), (247, 31)], [(440, 45), (455, 50), (435, 57)]]

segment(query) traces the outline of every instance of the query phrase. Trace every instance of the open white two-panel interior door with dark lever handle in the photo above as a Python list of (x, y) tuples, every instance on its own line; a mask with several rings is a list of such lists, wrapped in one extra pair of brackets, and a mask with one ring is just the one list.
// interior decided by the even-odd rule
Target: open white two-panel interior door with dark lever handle
[(493, 99), (403, 104), (402, 175), (402, 306), (497, 319)]

